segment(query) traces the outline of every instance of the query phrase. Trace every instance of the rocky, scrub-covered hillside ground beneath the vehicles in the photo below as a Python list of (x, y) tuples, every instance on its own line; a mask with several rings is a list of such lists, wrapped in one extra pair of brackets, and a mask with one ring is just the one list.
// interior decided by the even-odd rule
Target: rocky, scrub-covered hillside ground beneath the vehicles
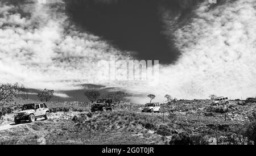
[[(2, 116), (1, 144), (253, 144), (246, 126), (255, 103), (212, 106), (209, 100), (180, 100), (162, 105), (162, 113), (142, 113), (143, 106), (121, 102), (114, 111), (91, 113), (79, 102), (48, 103), (51, 119), (13, 123)], [(67, 108), (65, 115), (61, 108)], [(7, 129), (1, 127), (10, 125)]]

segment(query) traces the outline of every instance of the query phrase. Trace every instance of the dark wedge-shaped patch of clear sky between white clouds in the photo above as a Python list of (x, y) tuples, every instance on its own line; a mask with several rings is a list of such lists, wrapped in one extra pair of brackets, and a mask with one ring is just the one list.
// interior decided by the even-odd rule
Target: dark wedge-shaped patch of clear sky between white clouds
[[(163, 11), (186, 18), (199, 1), (165, 0), (73, 0), (67, 10), (84, 31), (101, 36), (123, 51), (133, 51), (141, 60), (176, 61), (180, 52), (164, 33)], [(171, 41), (171, 42), (170, 42)]]

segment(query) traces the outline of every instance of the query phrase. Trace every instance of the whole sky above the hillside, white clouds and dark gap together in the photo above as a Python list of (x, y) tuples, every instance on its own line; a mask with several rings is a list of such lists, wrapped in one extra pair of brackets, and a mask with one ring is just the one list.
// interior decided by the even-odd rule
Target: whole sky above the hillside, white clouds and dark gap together
[[(159, 60), (158, 85), (102, 79), (111, 56)], [(256, 95), (255, 60), (254, 0), (0, 0), (0, 83), (61, 97), (120, 89), (137, 103), (149, 93), (246, 98)]]

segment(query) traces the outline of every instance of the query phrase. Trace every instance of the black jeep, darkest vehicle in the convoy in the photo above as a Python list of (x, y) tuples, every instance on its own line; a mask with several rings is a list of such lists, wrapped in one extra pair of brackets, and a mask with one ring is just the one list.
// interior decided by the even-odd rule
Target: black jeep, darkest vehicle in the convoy
[(91, 112), (95, 111), (112, 111), (114, 109), (114, 104), (112, 99), (98, 99), (96, 103), (92, 104)]

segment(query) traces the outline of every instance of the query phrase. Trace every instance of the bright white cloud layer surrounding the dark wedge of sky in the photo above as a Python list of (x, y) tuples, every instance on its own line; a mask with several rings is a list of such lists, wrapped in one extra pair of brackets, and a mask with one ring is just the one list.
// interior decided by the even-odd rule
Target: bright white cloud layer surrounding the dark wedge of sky
[(0, 83), (20, 82), (29, 88), (55, 90), (81, 89), (85, 83), (120, 87), (134, 95), (137, 103), (146, 102), (141, 96), (147, 94), (155, 94), (159, 102), (166, 94), (187, 99), (209, 94), (255, 96), (253, 0), (225, 1), (216, 7), (200, 3), (191, 22), (175, 32), (168, 32), (174, 31), (168, 28), (173, 28), (175, 18), (162, 12), (166, 35), (175, 37), (181, 55), (173, 65), (160, 65), (158, 86), (150, 86), (148, 81), (101, 79), (108, 66), (98, 66), (99, 62), (113, 55), (117, 60), (132, 58), (100, 37), (80, 32), (63, 11), (28, 2), (32, 3), (24, 3), (22, 13), (15, 5), (0, 3)]

